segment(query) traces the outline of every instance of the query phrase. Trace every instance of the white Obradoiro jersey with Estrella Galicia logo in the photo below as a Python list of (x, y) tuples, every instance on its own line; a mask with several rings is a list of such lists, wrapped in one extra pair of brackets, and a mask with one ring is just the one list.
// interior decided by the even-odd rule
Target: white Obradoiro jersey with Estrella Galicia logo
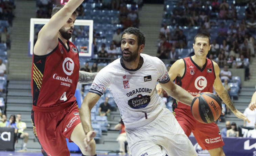
[(101, 96), (109, 88), (126, 128), (143, 126), (157, 117), (164, 101), (157, 94), (156, 83), (170, 81), (159, 58), (140, 56), (143, 58), (140, 68), (127, 69), (119, 58), (101, 69), (89, 91)]

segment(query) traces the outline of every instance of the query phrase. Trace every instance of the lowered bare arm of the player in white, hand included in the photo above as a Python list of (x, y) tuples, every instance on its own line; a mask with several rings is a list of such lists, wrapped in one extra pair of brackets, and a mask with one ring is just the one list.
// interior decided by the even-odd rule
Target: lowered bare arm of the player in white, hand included
[(93, 131), (92, 123), (91, 123), (91, 110), (92, 110), (92, 107), (97, 103), (99, 98), (100, 96), (98, 94), (89, 92), (86, 95), (81, 105), (81, 108), (79, 110), (80, 120), (86, 134), (86, 138), (84, 140), (86, 145), (85, 147), (86, 150), (88, 148), (89, 142), (96, 136), (96, 132)]

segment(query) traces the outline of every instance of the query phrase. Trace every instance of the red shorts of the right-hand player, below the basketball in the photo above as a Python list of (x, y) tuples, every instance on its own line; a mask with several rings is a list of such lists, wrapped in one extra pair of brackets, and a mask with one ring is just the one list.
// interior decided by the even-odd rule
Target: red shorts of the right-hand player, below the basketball
[(217, 124), (205, 124), (195, 120), (190, 110), (175, 108), (173, 114), (187, 136), (193, 132), (197, 143), (203, 150), (224, 146)]

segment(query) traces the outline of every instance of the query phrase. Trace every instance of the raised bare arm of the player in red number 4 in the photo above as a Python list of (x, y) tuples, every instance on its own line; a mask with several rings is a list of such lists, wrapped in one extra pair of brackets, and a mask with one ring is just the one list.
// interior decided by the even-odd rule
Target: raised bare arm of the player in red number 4
[(35, 55), (46, 55), (57, 46), (58, 31), (66, 23), (74, 22), (75, 19), (70, 19), (70, 17), (83, 1), (69, 0), (62, 9), (51, 17), (50, 21), (43, 26), (38, 34), (38, 40), (34, 46)]

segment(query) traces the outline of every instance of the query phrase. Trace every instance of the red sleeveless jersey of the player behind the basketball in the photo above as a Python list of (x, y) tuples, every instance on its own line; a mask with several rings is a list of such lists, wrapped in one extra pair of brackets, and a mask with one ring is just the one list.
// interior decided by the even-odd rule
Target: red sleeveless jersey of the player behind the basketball
[[(213, 89), (214, 80), (216, 78), (214, 66), (211, 60), (206, 59), (206, 63), (201, 69), (191, 57), (183, 59), (185, 63), (185, 72), (182, 77), (176, 77), (175, 83), (188, 91), (191, 95), (196, 96), (202, 92), (211, 92)], [(172, 107), (175, 109), (189, 109), (190, 106), (174, 100)]]

